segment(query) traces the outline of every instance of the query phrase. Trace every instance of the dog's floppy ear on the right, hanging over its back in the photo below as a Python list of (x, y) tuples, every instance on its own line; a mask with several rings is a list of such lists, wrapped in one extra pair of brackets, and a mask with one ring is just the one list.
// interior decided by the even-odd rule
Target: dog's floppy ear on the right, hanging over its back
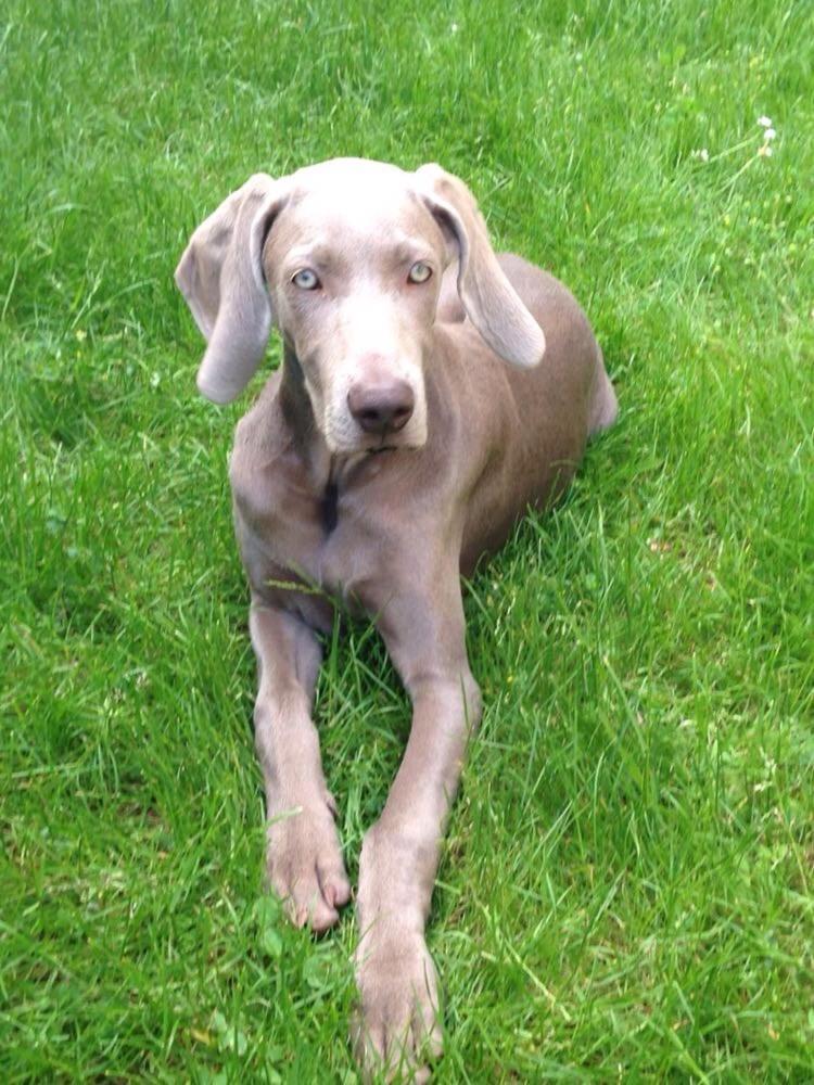
[(458, 294), (467, 316), (506, 361), (521, 369), (536, 366), (546, 337), (498, 264), (474, 196), (434, 163), (414, 176), (419, 195), (457, 250)]

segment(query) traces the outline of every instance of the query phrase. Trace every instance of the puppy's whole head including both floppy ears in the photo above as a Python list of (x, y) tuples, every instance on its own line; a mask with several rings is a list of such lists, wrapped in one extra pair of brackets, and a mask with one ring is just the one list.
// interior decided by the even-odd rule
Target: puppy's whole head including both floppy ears
[(279, 180), (255, 175), (195, 230), (176, 270), (207, 341), (199, 390), (233, 399), (277, 324), (331, 451), (421, 446), (424, 366), (453, 260), (486, 343), (516, 366), (536, 365), (543, 332), (460, 180), (434, 165), (410, 174), (360, 158)]

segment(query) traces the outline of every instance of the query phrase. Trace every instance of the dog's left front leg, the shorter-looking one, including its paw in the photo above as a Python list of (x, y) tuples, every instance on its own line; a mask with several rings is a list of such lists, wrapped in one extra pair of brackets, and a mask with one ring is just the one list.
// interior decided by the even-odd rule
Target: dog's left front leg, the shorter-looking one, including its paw
[(268, 878), (297, 926), (323, 931), (339, 919), (351, 886), (310, 718), (321, 650), (298, 617), (256, 599), (249, 626), (259, 679), (254, 735), (266, 787)]

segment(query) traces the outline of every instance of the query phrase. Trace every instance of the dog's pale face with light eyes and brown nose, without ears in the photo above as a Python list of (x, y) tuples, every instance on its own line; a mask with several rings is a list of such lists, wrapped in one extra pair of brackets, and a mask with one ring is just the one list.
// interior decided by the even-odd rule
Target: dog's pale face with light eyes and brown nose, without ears
[(451, 255), (400, 169), (343, 159), (292, 176), (263, 267), (332, 452), (427, 439), (424, 365)]

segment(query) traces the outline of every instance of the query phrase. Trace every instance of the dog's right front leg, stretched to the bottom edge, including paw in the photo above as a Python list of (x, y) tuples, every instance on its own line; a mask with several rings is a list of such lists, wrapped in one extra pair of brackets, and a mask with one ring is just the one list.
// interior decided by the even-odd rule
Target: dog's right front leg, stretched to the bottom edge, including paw
[(357, 1055), (368, 1071), (423, 1080), (441, 1051), (435, 968), (424, 942), (441, 843), (480, 690), (467, 661), (457, 563), (383, 608), (380, 628), (412, 701), (404, 760), (359, 861)]

